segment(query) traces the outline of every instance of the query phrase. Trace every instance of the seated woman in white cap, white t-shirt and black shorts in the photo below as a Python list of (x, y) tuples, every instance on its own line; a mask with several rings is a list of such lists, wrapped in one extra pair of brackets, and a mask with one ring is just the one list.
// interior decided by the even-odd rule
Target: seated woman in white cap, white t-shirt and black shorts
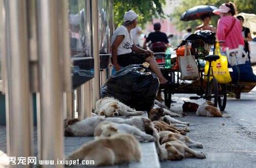
[(137, 17), (138, 15), (132, 10), (125, 12), (124, 24), (117, 28), (112, 36), (112, 62), (115, 70), (131, 64), (148, 62), (151, 70), (157, 75), (160, 85), (165, 85), (168, 81), (163, 77), (153, 52), (135, 45), (130, 34), (131, 30), (137, 26)]

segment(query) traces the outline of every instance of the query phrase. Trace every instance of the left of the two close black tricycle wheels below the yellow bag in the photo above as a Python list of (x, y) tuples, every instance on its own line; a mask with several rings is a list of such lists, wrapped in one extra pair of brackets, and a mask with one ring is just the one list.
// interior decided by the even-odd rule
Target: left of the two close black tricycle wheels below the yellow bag
[(217, 107), (218, 105), (218, 82), (215, 78), (213, 78), (209, 85), (208, 88), (206, 88), (205, 91), (205, 99), (207, 101), (214, 102), (214, 106)]

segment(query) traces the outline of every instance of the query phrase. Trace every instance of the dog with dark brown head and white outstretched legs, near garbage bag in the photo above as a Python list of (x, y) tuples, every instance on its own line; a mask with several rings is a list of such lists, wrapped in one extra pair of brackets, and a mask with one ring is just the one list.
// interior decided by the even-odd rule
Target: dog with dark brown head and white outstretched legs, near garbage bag
[(147, 115), (151, 121), (164, 121), (167, 124), (175, 124), (174, 126), (177, 127), (186, 127), (189, 125), (187, 122), (182, 122), (169, 115), (165, 115), (163, 108), (152, 109), (150, 112), (147, 112)]

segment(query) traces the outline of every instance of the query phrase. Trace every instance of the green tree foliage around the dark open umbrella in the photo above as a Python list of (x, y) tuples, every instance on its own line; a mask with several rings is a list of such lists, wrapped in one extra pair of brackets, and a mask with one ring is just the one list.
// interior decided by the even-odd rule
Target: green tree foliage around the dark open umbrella
[[(182, 0), (181, 5), (175, 9), (173, 15), (171, 15), (172, 20), (177, 26), (178, 30), (184, 30), (187, 27), (195, 28), (201, 24), (201, 20), (192, 20), (192, 21), (180, 21), (180, 16), (184, 11), (189, 8), (193, 8), (197, 5), (214, 5), (219, 7), (223, 3), (227, 3), (228, 0)], [(238, 13), (256, 13), (256, 1), (255, 0), (233, 0), (230, 1), (237, 6)], [(211, 19), (212, 25), (217, 26), (217, 21), (219, 16), (213, 16)]]

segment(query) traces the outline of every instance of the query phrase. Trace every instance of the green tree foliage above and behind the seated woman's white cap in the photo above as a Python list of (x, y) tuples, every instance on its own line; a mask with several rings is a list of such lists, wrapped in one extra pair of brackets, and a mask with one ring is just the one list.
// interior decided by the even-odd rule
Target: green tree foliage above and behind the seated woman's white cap
[(114, 0), (115, 25), (122, 25), (124, 13), (132, 9), (139, 15), (138, 23), (143, 27), (153, 18), (164, 18), (163, 5), (165, 0)]

